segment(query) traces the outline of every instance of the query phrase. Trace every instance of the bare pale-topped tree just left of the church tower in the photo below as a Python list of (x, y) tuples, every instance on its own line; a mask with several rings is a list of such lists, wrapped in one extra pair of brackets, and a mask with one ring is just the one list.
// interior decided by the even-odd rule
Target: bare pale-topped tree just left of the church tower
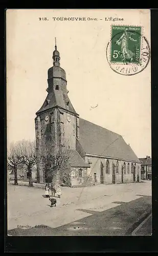
[(22, 140), (20, 143), (20, 151), (23, 157), (23, 163), (27, 166), (29, 176), (29, 186), (33, 187), (32, 170), (36, 164), (36, 143), (35, 141)]

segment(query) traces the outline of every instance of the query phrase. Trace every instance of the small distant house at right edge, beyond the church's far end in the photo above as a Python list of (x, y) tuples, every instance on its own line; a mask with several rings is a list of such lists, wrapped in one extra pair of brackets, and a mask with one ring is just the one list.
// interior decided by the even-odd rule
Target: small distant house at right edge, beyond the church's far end
[(151, 180), (151, 177), (152, 177), (151, 157), (146, 156), (146, 158), (140, 158), (140, 161), (141, 161), (141, 179)]

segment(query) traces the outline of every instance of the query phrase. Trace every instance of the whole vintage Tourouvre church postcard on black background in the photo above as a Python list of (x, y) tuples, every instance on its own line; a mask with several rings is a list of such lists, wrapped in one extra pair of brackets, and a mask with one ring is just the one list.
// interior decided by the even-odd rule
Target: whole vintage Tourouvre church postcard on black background
[(8, 9), (8, 236), (151, 236), (150, 10)]

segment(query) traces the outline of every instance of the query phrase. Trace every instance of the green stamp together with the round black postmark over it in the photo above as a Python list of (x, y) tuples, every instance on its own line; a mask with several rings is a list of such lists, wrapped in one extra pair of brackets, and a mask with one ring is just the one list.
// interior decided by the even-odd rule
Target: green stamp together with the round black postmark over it
[(149, 44), (139, 26), (111, 26), (106, 56), (109, 66), (122, 75), (143, 71), (150, 59)]

